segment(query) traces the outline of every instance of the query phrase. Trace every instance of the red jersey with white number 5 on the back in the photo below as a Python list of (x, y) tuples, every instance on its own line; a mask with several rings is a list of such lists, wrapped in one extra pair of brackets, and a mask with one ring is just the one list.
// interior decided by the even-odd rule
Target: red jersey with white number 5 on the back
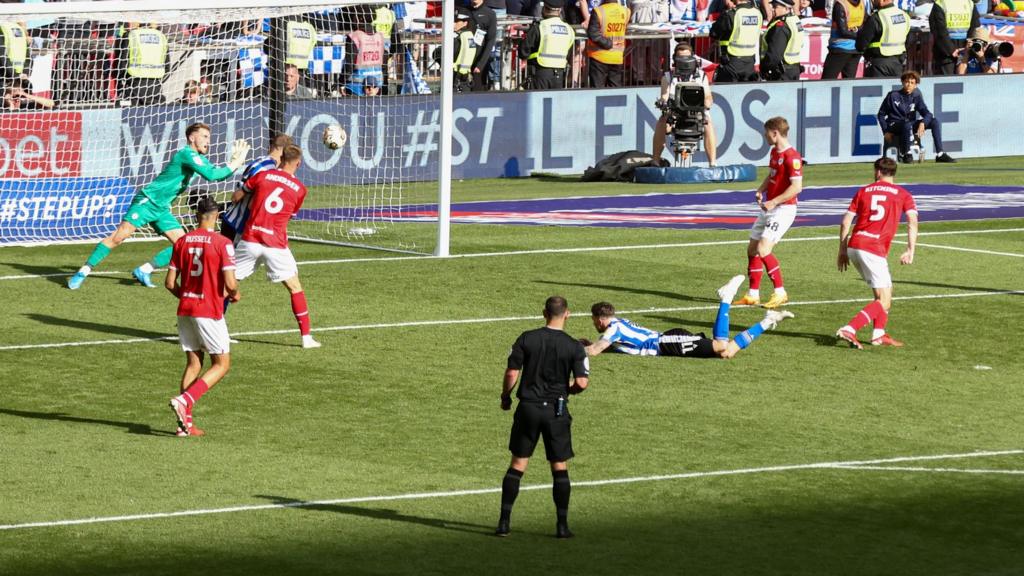
[(918, 206), (902, 187), (877, 181), (858, 190), (848, 210), (856, 214), (857, 223), (853, 225), (853, 236), (847, 245), (884, 258), (889, 255), (900, 214), (916, 213)]

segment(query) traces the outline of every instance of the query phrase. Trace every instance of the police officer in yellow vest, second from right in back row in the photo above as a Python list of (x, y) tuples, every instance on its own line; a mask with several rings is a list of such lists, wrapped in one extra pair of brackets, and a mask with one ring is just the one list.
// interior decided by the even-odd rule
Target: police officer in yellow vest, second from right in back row
[(910, 16), (893, 0), (874, 0), (874, 12), (857, 33), (857, 50), (864, 53), (864, 78), (894, 78), (906, 64)]

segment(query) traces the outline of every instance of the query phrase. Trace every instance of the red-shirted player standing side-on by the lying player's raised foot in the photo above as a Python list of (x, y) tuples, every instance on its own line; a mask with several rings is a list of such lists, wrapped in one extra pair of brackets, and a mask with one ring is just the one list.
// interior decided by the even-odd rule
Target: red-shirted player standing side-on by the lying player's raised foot
[(765, 122), (765, 139), (772, 146), (768, 175), (755, 193), (761, 214), (751, 228), (746, 246), (746, 275), (750, 286), (746, 295), (735, 304), (761, 303), (761, 276), (765, 269), (775, 285), (775, 293), (765, 302), (766, 308), (776, 308), (790, 301), (782, 285), (782, 270), (772, 249), (797, 219), (797, 195), (803, 190), (804, 159), (790, 146), (790, 123), (776, 116)]

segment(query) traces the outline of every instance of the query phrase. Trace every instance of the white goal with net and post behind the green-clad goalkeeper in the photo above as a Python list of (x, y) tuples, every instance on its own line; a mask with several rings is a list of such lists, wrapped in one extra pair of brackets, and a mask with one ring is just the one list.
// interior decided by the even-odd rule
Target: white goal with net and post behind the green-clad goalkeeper
[[(0, 57), (0, 245), (110, 235), (203, 122), (213, 164), (237, 138), (253, 147), (247, 162), (275, 133), (303, 150), (309, 194), (293, 238), (446, 254), (451, 82), (435, 61), (442, 18), (424, 18), (422, 4), (3, 4), (15, 38)], [(345, 135), (337, 150), (323, 141), (332, 125)], [(190, 206), (228, 202), (241, 174), (194, 176), (174, 215), (190, 228)]]

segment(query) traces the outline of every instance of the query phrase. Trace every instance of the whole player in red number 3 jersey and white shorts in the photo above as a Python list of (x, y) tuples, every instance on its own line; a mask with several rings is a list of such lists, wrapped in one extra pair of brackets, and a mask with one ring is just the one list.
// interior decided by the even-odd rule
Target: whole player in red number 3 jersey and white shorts
[[(223, 298), (239, 301), (234, 280), (234, 247), (217, 234), (217, 203), (205, 197), (196, 205), (199, 228), (174, 243), (166, 287), (178, 298), (178, 338), (185, 352), (181, 394), (171, 399), (178, 436), (203, 436), (193, 425), (193, 407), (231, 367), (230, 337), (224, 322)], [(180, 279), (180, 283), (179, 283)], [(203, 352), (212, 366), (200, 376)]]

